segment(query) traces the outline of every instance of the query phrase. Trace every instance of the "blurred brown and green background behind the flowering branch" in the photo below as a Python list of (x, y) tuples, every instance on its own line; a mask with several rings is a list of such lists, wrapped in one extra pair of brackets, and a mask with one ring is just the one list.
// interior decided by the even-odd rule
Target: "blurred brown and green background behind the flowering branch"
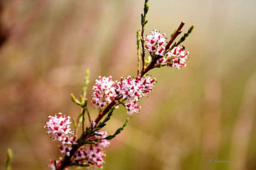
[[(49, 115), (77, 117), (70, 94), (98, 76), (136, 76), (143, 0), (0, 1), (0, 169), (46, 170), (61, 156)], [(105, 170), (256, 169), (256, 1), (150, 0), (150, 30), (195, 30), (187, 67), (154, 69), (139, 115), (112, 140)], [(179, 39), (181, 36), (178, 36)], [(148, 55), (148, 54), (147, 54)], [(90, 105), (95, 119), (97, 109)], [(129, 117), (116, 110), (109, 134)], [(209, 163), (209, 159), (232, 163)]]

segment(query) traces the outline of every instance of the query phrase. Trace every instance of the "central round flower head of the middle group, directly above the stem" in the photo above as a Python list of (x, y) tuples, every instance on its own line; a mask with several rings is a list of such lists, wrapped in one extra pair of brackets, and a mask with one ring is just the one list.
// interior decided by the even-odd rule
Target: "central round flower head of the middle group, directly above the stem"
[(131, 80), (130, 76), (128, 76), (126, 79), (121, 77), (121, 81), (116, 82), (113, 93), (115, 93), (114, 97), (118, 95), (123, 96), (123, 98), (134, 97), (134, 99), (138, 101), (139, 97), (142, 97), (143, 88), (144, 87), (139, 79), (135, 80), (135, 78), (133, 78)]

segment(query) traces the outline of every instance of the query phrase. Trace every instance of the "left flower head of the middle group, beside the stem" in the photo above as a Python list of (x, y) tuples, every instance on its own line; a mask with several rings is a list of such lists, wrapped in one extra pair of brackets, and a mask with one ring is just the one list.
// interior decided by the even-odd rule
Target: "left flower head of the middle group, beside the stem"
[(112, 81), (112, 77), (101, 77), (99, 76), (99, 80), (95, 80), (96, 85), (93, 86), (93, 95), (92, 95), (92, 100), (91, 101), (94, 105), (94, 108), (99, 107), (102, 109), (107, 105), (109, 102), (113, 100), (113, 84), (114, 81)]

